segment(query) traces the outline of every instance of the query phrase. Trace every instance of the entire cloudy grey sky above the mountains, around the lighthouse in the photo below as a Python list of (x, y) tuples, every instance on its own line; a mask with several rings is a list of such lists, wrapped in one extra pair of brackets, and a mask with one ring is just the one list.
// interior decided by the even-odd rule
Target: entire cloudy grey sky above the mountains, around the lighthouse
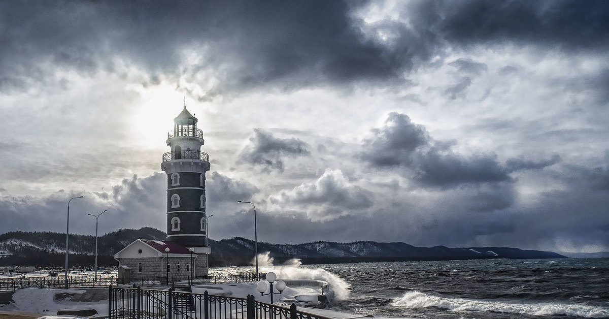
[(164, 230), (199, 118), (211, 238), (609, 250), (607, 1), (2, 1), (0, 232)]

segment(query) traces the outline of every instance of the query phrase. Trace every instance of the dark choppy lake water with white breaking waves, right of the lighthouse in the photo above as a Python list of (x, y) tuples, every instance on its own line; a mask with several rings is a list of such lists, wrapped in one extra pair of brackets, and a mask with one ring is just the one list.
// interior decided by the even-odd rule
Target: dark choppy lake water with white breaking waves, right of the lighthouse
[[(609, 259), (457, 260), (267, 267), (329, 281), (331, 308), (375, 317), (609, 318)], [(242, 268), (242, 271), (252, 267)]]

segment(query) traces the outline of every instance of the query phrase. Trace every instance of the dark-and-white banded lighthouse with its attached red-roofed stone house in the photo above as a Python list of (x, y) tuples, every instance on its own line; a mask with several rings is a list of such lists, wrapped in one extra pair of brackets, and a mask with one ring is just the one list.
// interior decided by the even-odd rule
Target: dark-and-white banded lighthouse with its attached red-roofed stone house
[(209, 157), (197, 118), (184, 109), (174, 118), (174, 131), (167, 134), (169, 152), (163, 154), (161, 170), (167, 174), (167, 240), (138, 239), (118, 253), (119, 282), (159, 278), (172, 282), (206, 276), (209, 271), (205, 173)]

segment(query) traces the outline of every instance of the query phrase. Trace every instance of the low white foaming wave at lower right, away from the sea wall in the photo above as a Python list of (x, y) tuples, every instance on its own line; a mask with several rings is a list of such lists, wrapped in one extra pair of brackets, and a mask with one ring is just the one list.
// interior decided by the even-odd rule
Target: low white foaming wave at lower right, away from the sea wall
[(586, 306), (583, 304), (532, 303), (510, 304), (489, 301), (476, 301), (460, 298), (442, 298), (423, 292), (407, 292), (401, 298), (393, 299), (392, 306), (421, 309), (437, 307), (455, 312), (485, 311), (523, 315), (566, 315), (584, 318), (607, 318), (609, 309)]

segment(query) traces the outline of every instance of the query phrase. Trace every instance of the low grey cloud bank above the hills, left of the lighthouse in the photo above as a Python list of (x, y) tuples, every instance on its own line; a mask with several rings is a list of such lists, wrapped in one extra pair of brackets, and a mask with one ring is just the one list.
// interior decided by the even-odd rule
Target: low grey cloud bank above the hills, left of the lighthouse
[[(65, 232), (68, 200), (70, 233), (94, 234), (95, 223), (88, 213), (108, 212), (99, 219), (100, 233), (117, 228), (151, 226), (164, 229), (166, 175), (156, 173), (124, 179), (108, 192), (60, 192), (44, 197), (0, 198), (0, 233), (7, 231)], [(111, 221), (110, 221), (111, 220)], [(35, 221), (35, 222), (33, 222)]]

